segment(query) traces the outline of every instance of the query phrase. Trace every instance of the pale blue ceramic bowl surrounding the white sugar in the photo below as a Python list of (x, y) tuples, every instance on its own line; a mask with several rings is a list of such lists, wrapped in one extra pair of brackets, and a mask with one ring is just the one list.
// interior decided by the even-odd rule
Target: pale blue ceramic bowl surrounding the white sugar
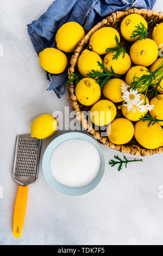
[[(101, 166), (96, 178), (86, 186), (67, 187), (65, 185), (60, 184), (54, 178), (51, 172), (50, 161), (51, 161), (51, 156), (54, 149), (57, 148), (60, 143), (67, 141), (68, 139), (85, 139), (86, 141), (92, 143), (98, 150), (99, 156), (101, 158)], [(48, 147), (45, 150), (45, 153), (43, 154), (42, 169), (43, 169), (43, 175), (45, 176), (46, 181), (52, 188), (54, 188), (54, 190), (57, 190), (58, 192), (65, 194), (67, 196), (80, 196), (82, 194), (86, 194), (91, 190), (93, 190), (93, 188), (95, 188), (101, 181), (104, 174), (104, 170), (105, 170), (105, 157), (104, 157), (102, 148), (100, 147), (99, 143), (95, 139), (93, 139), (89, 135), (85, 135), (82, 132), (68, 132), (58, 136), (48, 145)]]

